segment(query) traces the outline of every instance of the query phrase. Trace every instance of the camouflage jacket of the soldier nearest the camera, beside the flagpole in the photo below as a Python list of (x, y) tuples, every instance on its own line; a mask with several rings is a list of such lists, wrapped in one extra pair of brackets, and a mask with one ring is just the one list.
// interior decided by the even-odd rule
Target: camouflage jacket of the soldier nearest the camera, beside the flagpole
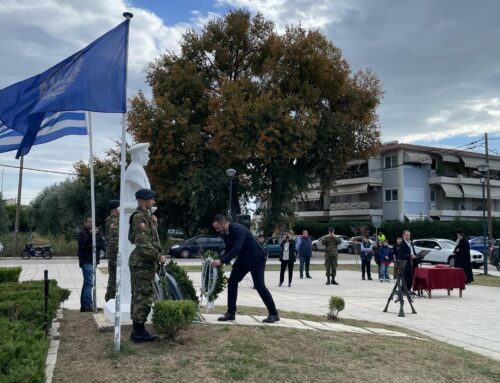
[(147, 266), (160, 262), (161, 248), (156, 223), (151, 213), (137, 208), (130, 216), (128, 239), (135, 245), (129, 266)]

